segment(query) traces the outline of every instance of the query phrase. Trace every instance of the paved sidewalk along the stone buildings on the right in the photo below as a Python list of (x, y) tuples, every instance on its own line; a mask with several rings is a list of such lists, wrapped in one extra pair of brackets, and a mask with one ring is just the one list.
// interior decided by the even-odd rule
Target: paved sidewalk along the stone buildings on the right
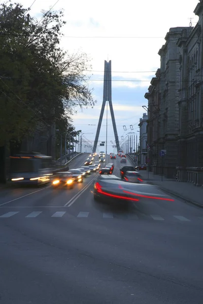
[(153, 172), (148, 172), (145, 170), (139, 171), (142, 175), (143, 179), (147, 181), (147, 183), (156, 185), (161, 188), (163, 191), (174, 195), (188, 203), (197, 205), (203, 208), (203, 189), (202, 187), (196, 187), (192, 183), (189, 182), (178, 182), (174, 179), (168, 179), (163, 176), (163, 180), (161, 181), (161, 176), (153, 174)]

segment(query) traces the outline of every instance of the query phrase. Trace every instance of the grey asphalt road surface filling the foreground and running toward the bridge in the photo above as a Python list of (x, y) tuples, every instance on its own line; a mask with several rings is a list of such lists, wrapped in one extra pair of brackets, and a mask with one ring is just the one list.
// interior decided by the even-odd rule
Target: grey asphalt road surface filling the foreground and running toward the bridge
[(1, 191), (0, 303), (202, 304), (203, 210), (177, 199), (98, 205), (95, 176), (70, 191)]

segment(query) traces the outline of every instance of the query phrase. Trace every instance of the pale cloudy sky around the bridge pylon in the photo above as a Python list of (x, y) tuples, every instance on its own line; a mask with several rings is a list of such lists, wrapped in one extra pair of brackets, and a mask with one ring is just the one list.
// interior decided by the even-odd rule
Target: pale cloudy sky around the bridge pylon
[[(27, 8), (34, 0), (18, 2)], [(36, 0), (33, 3), (30, 14), (39, 19), (42, 9), (53, 6), (53, 10), (64, 9), (66, 25), (62, 29), (61, 47), (70, 53), (85, 52), (91, 59), (93, 75), (88, 83), (97, 103), (83, 111), (76, 108), (73, 122), (76, 130), (82, 130), (92, 144), (103, 101), (104, 61), (112, 61), (112, 103), (119, 141), (128, 132), (139, 137), (138, 124), (146, 112), (142, 106), (147, 105), (144, 95), (160, 67), (158, 51), (165, 44), (164, 37), (171, 27), (189, 26), (190, 18), (195, 26), (198, 17), (193, 11), (198, 3), (198, 0)], [(115, 151), (111, 143), (115, 138), (110, 111), (107, 123), (105, 110), (98, 144), (106, 141), (106, 125), (110, 153)]]

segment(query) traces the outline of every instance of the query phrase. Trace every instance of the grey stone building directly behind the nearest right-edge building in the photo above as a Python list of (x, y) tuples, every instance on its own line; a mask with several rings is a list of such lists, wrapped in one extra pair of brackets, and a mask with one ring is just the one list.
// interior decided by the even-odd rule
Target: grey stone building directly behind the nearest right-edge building
[[(160, 69), (145, 94), (149, 110), (150, 169), (168, 178), (176, 176), (178, 165), (180, 49), (177, 42), (184, 29), (191, 28), (174, 27), (167, 32), (166, 43), (158, 52)], [(160, 156), (161, 150), (166, 151), (164, 156)]]

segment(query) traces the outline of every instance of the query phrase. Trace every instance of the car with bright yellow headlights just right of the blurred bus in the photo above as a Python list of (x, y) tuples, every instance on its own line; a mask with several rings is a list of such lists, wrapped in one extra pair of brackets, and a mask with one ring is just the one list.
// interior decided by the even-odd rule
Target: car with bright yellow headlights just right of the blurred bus
[(53, 177), (52, 187), (56, 188), (59, 186), (65, 186), (66, 188), (73, 189), (74, 180), (75, 178), (73, 177), (73, 174), (71, 172), (58, 172)]

